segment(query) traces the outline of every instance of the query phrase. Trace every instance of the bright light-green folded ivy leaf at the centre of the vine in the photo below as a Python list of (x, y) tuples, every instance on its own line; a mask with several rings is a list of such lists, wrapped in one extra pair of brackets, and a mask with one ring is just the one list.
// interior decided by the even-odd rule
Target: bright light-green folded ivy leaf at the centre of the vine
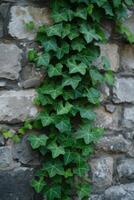
[(57, 115), (63, 115), (69, 113), (72, 107), (73, 105), (70, 104), (69, 102), (66, 102), (65, 106), (63, 105), (63, 102), (60, 102), (57, 105)]

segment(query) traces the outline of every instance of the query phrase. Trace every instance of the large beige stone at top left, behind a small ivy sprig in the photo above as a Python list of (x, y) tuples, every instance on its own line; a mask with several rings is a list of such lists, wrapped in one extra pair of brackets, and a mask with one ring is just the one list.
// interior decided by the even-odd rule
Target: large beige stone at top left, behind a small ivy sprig
[(49, 24), (50, 20), (47, 8), (13, 6), (11, 8), (9, 34), (18, 39), (33, 40), (36, 36), (36, 31), (28, 31), (25, 25), (31, 21), (34, 22), (36, 28), (42, 24)]

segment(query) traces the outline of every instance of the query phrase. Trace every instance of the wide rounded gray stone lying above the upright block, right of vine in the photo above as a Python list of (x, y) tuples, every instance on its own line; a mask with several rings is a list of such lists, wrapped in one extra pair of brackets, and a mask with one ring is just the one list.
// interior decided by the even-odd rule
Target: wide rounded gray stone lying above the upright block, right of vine
[(111, 152), (128, 152), (132, 144), (127, 141), (122, 135), (104, 136), (96, 144), (98, 149)]

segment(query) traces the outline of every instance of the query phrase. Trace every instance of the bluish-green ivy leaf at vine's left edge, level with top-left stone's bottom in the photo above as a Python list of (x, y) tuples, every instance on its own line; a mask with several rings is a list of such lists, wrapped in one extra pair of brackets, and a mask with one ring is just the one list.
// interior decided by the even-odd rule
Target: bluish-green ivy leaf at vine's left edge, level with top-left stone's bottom
[(57, 51), (57, 48), (58, 48), (55, 38), (45, 41), (42, 45), (45, 48), (46, 52), (51, 51), (51, 50)]

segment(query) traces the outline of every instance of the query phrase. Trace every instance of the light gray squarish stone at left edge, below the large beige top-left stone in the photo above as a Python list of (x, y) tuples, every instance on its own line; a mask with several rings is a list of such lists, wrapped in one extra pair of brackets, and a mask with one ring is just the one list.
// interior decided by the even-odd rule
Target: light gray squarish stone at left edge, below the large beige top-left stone
[(0, 44), (0, 78), (10, 80), (19, 78), (21, 53), (15, 44)]

